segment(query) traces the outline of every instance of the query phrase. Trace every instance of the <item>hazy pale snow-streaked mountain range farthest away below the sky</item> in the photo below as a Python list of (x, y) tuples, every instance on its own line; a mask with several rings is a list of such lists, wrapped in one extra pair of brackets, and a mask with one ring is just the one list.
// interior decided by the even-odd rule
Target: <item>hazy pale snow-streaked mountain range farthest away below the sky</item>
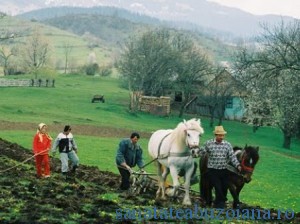
[(188, 22), (247, 37), (258, 34), (261, 23), (275, 24), (281, 20), (293, 20), (291, 17), (275, 15), (255, 16), (206, 0), (7, 0), (0, 2), (0, 8), (12, 14), (57, 6), (118, 7), (161, 20)]

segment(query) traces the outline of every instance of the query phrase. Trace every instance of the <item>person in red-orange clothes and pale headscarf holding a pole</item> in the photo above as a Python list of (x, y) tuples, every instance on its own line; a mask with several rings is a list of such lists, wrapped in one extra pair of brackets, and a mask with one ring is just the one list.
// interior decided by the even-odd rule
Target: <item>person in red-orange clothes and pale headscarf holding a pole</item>
[(33, 138), (33, 153), (35, 155), (37, 178), (50, 177), (49, 150), (52, 138), (47, 133), (47, 126), (40, 123)]

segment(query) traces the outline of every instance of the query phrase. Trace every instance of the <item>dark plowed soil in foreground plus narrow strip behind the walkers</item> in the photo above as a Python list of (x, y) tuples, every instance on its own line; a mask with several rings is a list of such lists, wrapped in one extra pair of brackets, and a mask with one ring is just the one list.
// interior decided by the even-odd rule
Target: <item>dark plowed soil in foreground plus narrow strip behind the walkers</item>
[[(0, 122), (5, 130), (33, 130), (35, 124)], [(17, 127), (16, 127), (17, 125)], [(61, 129), (61, 124), (51, 128)], [(76, 128), (76, 127), (75, 127)], [(104, 129), (106, 131), (104, 131)], [(95, 131), (96, 130), (96, 131)], [(102, 131), (102, 132), (101, 132)], [(125, 133), (126, 132), (126, 133)], [(128, 130), (110, 130), (86, 126), (78, 128), (77, 134), (102, 136), (126, 136)], [(142, 133), (150, 135), (149, 133)], [(133, 216), (116, 219), (117, 209), (149, 208), (183, 208), (182, 198), (168, 201), (155, 201), (154, 188), (134, 195), (126, 195), (118, 190), (120, 178), (111, 172), (101, 171), (97, 167), (80, 165), (75, 176), (68, 180), (60, 174), (60, 161), (51, 159), (51, 177), (37, 179), (31, 150), (17, 144), (0, 139), (0, 223), (210, 223), (205, 219), (177, 220), (150, 219), (133, 220)], [(192, 193), (194, 204), (202, 206), (197, 193)], [(230, 209), (230, 206), (228, 206)], [(191, 209), (194, 208), (194, 205)], [(243, 208), (263, 209), (243, 204)], [(128, 210), (127, 210), (128, 211)], [(277, 217), (277, 210), (272, 209), (271, 217), (264, 223), (300, 223), (300, 213), (292, 220), (284, 216)], [(125, 214), (124, 214), (125, 215)], [(253, 221), (257, 223), (258, 221)], [(216, 223), (220, 223), (216, 222)], [(243, 220), (232, 223), (246, 223)], [(247, 222), (249, 223), (249, 222)], [(252, 221), (251, 221), (252, 223)]]

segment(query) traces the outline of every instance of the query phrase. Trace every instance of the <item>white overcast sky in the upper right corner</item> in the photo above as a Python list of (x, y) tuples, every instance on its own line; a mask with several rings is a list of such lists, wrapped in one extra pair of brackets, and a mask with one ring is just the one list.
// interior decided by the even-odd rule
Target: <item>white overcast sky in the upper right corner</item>
[(276, 14), (300, 19), (300, 0), (207, 0), (255, 15)]

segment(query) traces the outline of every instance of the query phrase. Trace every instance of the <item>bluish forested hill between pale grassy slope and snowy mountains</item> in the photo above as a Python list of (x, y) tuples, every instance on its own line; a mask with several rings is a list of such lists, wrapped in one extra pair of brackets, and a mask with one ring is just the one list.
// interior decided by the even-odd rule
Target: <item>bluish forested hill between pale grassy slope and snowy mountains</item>
[[(158, 26), (169, 28), (189, 27), (186, 32), (199, 41), (207, 53), (213, 55), (216, 61), (228, 60), (228, 48), (226, 44), (213, 38), (211, 34), (216, 34), (212, 30), (199, 30), (188, 23), (171, 23), (158, 19), (129, 12), (124, 9), (113, 7), (57, 7), (45, 8), (31, 11), (22, 15), (21, 18), (30, 19), (32, 22), (40, 22), (52, 27), (75, 33), (81, 37), (90, 36), (92, 39), (99, 38), (99, 41), (111, 48), (118, 48), (120, 44), (128, 40), (131, 36), (141, 33), (147, 29)], [(194, 29), (193, 29), (194, 28)], [(222, 33), (225, 35), (224, 33)], [(97, 42), (97, 41), (96, 41)], [(92, 43), (91, 43), (92, 44)]]

